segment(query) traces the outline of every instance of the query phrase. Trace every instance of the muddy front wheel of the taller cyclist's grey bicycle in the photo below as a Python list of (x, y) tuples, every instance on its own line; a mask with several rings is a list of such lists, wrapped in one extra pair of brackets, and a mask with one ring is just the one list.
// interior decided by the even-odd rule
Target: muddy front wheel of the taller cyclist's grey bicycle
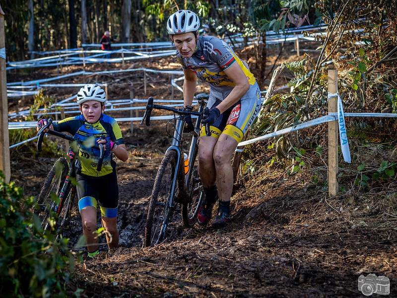
[(145, 227), (145, 246), (164, 241), (172, 210), (170, 200), (174, 201), (177, 190), (172, 192), (172, 181), (176, 175), (176, 152), (165, 153), (154, 181)]

